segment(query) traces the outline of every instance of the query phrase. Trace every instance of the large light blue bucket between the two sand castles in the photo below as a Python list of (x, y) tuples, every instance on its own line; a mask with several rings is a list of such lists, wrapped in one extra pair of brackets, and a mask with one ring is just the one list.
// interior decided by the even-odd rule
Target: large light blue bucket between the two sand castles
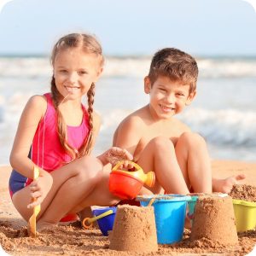
[[(152, 196), (137, 197), (141, 206), (147, 207)], [(172, 244), (183, 239), (187, 201), (190, 196), (158, 195), (153, 203), (157, 242)]]

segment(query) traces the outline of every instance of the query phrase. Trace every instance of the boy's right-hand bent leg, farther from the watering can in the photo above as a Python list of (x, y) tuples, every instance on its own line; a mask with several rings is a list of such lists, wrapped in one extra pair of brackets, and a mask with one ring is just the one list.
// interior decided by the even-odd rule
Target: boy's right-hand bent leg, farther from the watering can
[(175, 147), (177, 162), (187, 186), (194, 192), (212, 192), (212, 170), (207, 144), (198, 134), (185, 132)]

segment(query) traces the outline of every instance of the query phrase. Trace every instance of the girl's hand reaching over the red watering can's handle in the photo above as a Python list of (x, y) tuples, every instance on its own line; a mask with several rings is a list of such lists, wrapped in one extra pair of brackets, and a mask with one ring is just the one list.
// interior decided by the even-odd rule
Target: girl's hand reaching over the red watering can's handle
[[(126, 149), (112, 147), (100, 155), (99, 159), (102, 160), (103, 165), (110, 163), (115, 166), (121, 160), (132, 160), (132, 155)], [(125, 162), (124, 166), (129, 167), (128, 162)]]

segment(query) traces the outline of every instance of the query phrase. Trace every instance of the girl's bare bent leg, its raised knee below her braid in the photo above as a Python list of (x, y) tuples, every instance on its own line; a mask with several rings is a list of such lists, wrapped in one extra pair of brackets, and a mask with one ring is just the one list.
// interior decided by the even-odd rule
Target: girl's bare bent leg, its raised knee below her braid
[[(38, 219), (57, 223), (62, 217), (79, 205), (84, 196), (102, 177), (102, 162), (93, 157), (83, 157), (50, 173), (53, 183), (49, 194), (41, 204)], [(47, 177), (42, 182), (47, 183)], [(81, 198), (82, 197), (82, 198)], [(26, 187), (13, 195), (13, 203), (20, 215), (28, 221), (32, 209), (27, 209), (31, 200), (30, 189)]]

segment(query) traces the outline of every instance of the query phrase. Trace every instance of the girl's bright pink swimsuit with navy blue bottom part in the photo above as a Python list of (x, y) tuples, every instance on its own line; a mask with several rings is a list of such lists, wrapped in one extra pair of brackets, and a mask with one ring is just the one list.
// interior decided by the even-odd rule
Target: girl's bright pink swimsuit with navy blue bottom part
[[(50, 93), (44, 94), (47, 99), (47, 109), (44, 117), (38, 124), (38, 129), (33, 138), (32, 147), (28, 157), (45, 171), (51, 172), (72, 159), (61, 147), (57, 133), (57, 117)], [(73, 148), (79, 149), (87, 137), (89, 129), (88, 113), (84, 110), (84, 118), (79, 126), (67, 125), (67, 141)], [(13, 170), (9, 178), (10, 195), (23, 189), (32, 182), (32, 179), (24, 177)]]

